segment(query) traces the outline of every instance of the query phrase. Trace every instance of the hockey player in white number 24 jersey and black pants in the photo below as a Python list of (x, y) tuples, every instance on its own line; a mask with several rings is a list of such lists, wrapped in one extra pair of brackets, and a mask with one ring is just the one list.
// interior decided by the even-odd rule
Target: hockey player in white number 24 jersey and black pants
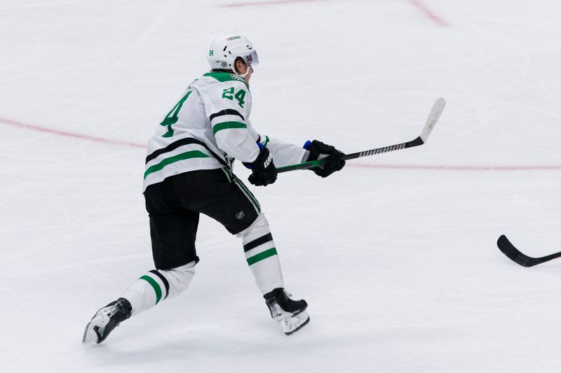
[(245, 36), (217, 36), (207, 55), (211, 71), (194, 80), (158, 125), (147, 146), (144, 198), (156, 269), (134, 281), (86, 325), (83, 342), (103, 342), (122, 321), (180, 295), (195, 274), (200, 213), (242, 239), (245, 259), (274, 321), (290, 335), (309, 322), (305, 300), (284, 289), (269, 223), (254, 195), (232, 172), (234, 159), (251, 169), (248, 180), (266, 186), (277, 166), (325, 157), (313, 171), (326, 177), (344, 167), (344, 155), (320, 141), (304, 148), (258, 134), (252, 127), (249, 81), (257, 52)]

